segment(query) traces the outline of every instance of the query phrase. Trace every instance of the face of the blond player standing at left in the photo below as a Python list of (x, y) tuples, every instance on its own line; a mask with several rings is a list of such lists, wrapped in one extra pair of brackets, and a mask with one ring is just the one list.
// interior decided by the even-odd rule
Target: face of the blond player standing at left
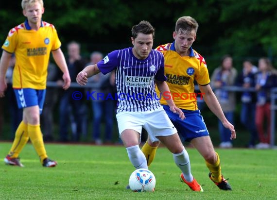
[(44, 8), (39, 2), (35, 2), (32, 5), (26, 6), (23, 10), (23, 15), (27, 17), (28, 22), (32, 24), (38, 24), (41, 22), (42, 14), (44, 13)]

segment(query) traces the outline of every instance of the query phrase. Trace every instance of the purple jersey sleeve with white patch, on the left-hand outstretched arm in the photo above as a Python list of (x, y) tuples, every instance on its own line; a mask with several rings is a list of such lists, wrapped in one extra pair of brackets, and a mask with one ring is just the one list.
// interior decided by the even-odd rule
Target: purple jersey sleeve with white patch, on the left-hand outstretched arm
[(119, 50), (114, 50), (97, 63), (97, 67), (103, 74), (107, 74), (118, 67)]

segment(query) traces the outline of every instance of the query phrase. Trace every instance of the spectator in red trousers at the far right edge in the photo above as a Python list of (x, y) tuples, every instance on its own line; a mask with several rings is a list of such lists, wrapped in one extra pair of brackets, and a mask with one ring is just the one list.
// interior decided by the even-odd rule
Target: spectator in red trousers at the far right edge
[[(259, 72), (256, 76), (257, 107), (256, 107), (256, 126), (259, 134), (260, 143), (257, 149), (268, 149), (270, 147), (270, 90), (277, 86), (277, 70), (273, 68), (268, 58), (259, 59)], [(266, 120), (265, 120), (266, 119)], [(266, 121), (266, 129), (264, 125)]]

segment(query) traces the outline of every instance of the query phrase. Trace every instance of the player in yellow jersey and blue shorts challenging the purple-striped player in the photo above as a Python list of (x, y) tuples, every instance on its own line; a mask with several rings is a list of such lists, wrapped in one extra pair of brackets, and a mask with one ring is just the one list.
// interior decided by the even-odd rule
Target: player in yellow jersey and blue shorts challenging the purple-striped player
[[(205, 59), (191, 48), (196, 39), (197, 21), (192, 17), (180, 17), (173, 32), (174, 42), (161, 45), (156, 50), (164, 54), (165, 75), (173, 96), (173, 101), (185, 114), (180, 120), (169, 112), (164, 99), (160, 102), (172, 120), (178, 133), (185, 141), (190, 142), (204, 157), (210, 171), (209, 178), (222, 190), (231, 190), (231, 186), (221, 174), (219, 155), (215, 152), (203, 117), (197, 108), (194, 94), (194, 80), (198, 83), (209, 109), (221, 120), (225, 128), (231, 132), (231, 139), (236, 138), (234, 126), (226, 119), (210, 85)], [(156, 89), (158, 92), (158, 89)], [(160, 94), (157, 94), (159, 97)], [(153, 161), (158, 142), (152, 143), (149, 138), (142, 151), (150, 166)], [(182, 177), (181, 177), (181, 181)], [(184, 181), (183, 181), (184, 182)]]

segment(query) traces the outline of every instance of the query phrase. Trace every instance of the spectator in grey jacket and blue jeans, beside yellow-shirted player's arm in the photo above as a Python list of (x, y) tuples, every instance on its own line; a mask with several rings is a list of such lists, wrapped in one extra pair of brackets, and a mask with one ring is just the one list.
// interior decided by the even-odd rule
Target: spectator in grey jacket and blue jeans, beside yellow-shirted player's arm
[[(233, 67), (233, 59), (230, 55), (223, 56), (221, 66), (216, 68), (211, 77), (211, 84), (215, 89), (215, 95), (222, 107), (225, 117), (233, 124), (235, 111), (235, 93), (225, 90), (224, 86), (234, 85), (237, 77), (237, 70)], [(226, 129), (221, 121), (218, 122), (221, 148), (232, 148), (233, 144), (230, 139), (231, 132)]]

